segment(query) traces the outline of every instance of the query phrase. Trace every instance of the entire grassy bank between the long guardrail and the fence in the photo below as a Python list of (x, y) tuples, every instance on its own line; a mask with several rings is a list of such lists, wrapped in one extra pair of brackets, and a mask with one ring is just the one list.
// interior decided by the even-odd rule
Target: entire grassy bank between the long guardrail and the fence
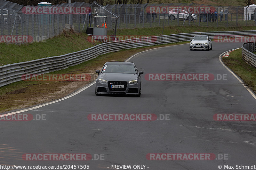
[[(162, 27), (120, 29), (117, 35), (169, 35), (186, 32), (210, 32), (210, 31), (241, 31), (254, 30), (254, 26), (248, 27), (199, 27), (199, 26), (167, 26), (162, 33)], [(108, 35), (114, 35), (110, 30)], [(25, 45), (0, 44), (0, 66), (17, 62), (36, 60), (45, 57), (63, 55), (84, 50), (99, 43), (90, 42), (90, 36), (85, 33), (64, 32), (63, 34), (48, 39), (44, 42), (33, 42)]]

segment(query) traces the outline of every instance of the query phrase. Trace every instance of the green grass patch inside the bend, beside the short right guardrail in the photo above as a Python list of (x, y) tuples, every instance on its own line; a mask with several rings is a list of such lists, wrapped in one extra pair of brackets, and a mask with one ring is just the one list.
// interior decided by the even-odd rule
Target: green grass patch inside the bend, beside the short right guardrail
[(256, 69), (244, 62), (241, 53), (241, 49), (235, 50), (229, 54), (229, 57), (223, 57), (222, 60), (256, 93)]

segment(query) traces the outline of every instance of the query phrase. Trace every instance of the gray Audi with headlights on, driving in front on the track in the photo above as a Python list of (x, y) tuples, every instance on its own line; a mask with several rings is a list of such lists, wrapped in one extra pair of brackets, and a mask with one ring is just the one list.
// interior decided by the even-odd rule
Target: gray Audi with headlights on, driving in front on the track
[(96, 79), (95, 95), (131, 94), (140, 97), (141, 74), (132, 62), (106, 62)]

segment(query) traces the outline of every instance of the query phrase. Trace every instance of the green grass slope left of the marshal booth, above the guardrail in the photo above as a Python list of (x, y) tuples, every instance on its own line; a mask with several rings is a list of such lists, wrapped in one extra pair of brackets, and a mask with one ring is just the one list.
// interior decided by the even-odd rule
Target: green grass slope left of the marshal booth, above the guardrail
[(85, 33), (64, 32), (47, 39), (24, 45), (0, 44), (0, 66), (17, 62), (36, 60), (80, 51), (99, 43), (88, 43)]

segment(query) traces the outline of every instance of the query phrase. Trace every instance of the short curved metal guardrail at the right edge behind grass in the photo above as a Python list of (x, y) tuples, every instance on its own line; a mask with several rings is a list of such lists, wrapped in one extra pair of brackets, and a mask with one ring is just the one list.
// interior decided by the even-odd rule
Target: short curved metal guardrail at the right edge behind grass
[(253, 53), (256, 51), (255, 44), (256, 42), (249, 42), (242, 45), (242, 58), (253, 67), (256, 67), (256, 54)]

